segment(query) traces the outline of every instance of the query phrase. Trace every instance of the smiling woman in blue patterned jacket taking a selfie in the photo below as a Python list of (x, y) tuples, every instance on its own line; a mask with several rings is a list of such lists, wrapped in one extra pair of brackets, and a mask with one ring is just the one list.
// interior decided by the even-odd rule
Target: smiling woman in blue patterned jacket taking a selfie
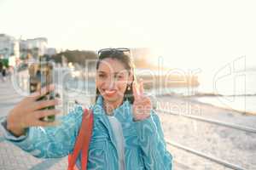
[[(126, 53), (129, 49), (99, 51), (96, 104), (90, 107), (94, 114), (94, 127), (87, 168), (172, 169), (172, 156), (166, 150), (160, 119), (152, 110), (149, 97), (143, 94), (143, 82), (137, 84), (131, 57)], [(47, 90), (44, 88), (43, 92), (26, 97), (10, 111), (3, 123), (5, 137), (32, 156), (67, 156), (73, 153), (83, 109), (75, 107), (70, 114), (61, 117), (61, 124), (50, 127), (55, 122), (41, 122), (39, 118), (58, 114), (59, 111), (38, 109), (57, 105), (58, 101), (36, 101)], [(76, 163), (79, 168), (80, 158)]]

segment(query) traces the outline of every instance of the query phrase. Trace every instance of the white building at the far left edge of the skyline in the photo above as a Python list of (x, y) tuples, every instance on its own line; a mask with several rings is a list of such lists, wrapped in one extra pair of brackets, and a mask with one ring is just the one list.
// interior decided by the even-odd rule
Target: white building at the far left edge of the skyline
[(9, 57), (20, 57), (20, 43), (15, 37), (11, 37), (6, 34), (0, 34), (0, 56), (3, 59), (9, 59)]

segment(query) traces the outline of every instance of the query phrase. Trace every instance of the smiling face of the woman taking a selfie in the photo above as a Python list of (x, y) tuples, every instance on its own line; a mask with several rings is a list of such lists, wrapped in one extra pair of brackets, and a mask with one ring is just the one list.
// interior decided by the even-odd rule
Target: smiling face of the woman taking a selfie
[(96, 88), (108, 103), (123, 100), (128, 84), (132, 82), (132, 74), (118, 59), (102, 59), (96, 71)]

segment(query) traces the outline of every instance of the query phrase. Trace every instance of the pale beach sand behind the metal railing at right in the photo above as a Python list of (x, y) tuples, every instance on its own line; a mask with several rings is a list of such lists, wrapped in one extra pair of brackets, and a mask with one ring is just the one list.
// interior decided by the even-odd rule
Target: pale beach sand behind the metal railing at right
[[(162, 96), (157, 98), (159, 107), (169, 105), (170, 111), (177, 114), (202, 116), (220, 122), (240, 126), (256, 127), (256, 116), (244, 115), (212, 105), (204, 105), (194, 99)], [(183, 116), (173, 116), (158, 111), (166, 139), (183, 144), (207, 155), (228, 161), (245, 169), (256, 169), (256, 133), (247, 133), (230, 127), (222, 127), (208, 122), (199, 122)], [(200, 156), (168, 145), (174, 156), (177, 169), (229, 169), (208, 161)], [(176, 169), (176, 168), (174, 168)]]

